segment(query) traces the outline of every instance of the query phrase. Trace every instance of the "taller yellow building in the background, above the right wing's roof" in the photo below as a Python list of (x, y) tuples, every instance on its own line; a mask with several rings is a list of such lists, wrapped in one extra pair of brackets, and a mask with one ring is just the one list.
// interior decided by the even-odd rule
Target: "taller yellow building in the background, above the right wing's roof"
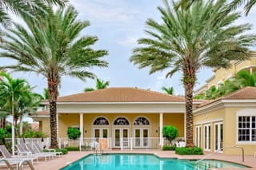
[(205, 93), (211, 87), (219, 87), (224, 81), (234, 77), (239, 71), (247, 70), (249, 73), (256, 72), (256, 52), (251, 54), (249, 60), (231, 61), (230, 69), (214, 69), (214, 76), (206, 80), (206, 84), (194, 91), (195, 96)]

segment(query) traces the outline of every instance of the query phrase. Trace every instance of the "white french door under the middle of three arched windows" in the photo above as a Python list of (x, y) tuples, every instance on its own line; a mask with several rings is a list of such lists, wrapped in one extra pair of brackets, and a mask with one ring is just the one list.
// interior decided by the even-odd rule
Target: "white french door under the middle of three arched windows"
[(129, 147), (129, 128), (114, 128), (114, 147)]

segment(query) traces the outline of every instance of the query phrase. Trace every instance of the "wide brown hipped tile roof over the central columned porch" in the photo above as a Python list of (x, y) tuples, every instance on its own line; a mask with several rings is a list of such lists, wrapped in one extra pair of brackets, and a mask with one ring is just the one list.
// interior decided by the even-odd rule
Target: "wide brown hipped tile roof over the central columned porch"
[(58, 97), (57, 102), (185, 102), (185, 99), (146, 89), (106, 88)]

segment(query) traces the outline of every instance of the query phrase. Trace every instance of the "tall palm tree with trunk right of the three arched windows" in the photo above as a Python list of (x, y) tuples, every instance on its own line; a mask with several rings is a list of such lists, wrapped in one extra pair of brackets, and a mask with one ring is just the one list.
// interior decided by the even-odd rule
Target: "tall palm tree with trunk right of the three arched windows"
[[(202, 67), (228, 68), (231, 60), (245, 60), (250, 56), (248, 46), (255, 42), (255, 35), (246, 34), (249, 24), (234, 26), (238, 13), (226, 14), (219, 22), (225, 0), (194, 2), (189, 9), (158, 7), (162, 22), (148, 19), (146, 34), (134, 49), (130, 61), (139, 68), (150, 66), (150, 73), (169, 69), (166, 77), (182, 73), (186, 101), (186, 146), (193, 144), (193, 89), (197, 73)], [(214, 12), (213, 12), (214, 11)], [(232, 25), (231, 25), (232, 24)]]

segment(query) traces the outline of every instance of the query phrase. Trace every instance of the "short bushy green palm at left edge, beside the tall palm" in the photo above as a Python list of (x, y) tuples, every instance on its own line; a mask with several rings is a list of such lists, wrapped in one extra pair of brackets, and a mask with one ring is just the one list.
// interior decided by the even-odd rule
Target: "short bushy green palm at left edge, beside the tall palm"
[(20, 135), (22, 135), (22, 117), (34, 113), (38, 109), (42, 97), (32, 93), (30, 85), (23, 79), (13, 79), (8, 73), (0, 73), (0, 114), (2, 118), (13, 114), (14, 126), (20, 120)]

